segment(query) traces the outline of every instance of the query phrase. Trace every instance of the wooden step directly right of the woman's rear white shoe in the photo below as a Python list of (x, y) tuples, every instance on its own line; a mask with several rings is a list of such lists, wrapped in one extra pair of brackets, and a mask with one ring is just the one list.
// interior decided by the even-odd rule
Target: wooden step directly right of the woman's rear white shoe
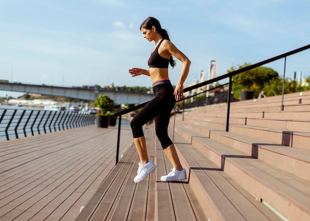
[[(237, 182), (176, 135), (175, 146), (188, 183), (209, 220), (280, 220)], [(207, 220), (207, 219), (206, 219)]]

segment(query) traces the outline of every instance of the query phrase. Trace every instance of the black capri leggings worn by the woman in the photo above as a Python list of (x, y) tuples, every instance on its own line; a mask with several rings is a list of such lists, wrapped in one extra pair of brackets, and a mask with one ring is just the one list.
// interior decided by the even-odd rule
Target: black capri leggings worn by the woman
[(142, 127), (152, 119), (155, 119), (155, 131), (162, 149), (172, 144), (168, 136), (168, 124), (171, 110), (175, 104), (173, 95), (174, 89), (170, 81), (156, 82), (153, 86), (155, 98), (153, 98), (141, 111), (132, 119), (130, 126), (133, 137), (144, 136)]

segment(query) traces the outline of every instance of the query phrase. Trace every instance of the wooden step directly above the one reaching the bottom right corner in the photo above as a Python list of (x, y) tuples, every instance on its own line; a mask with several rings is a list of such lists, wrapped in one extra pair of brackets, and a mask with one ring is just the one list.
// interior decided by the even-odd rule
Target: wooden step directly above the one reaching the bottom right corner
[[(216, 131), (197, 125), (182, 126), (181, 124), (177, 124), (175, 131), (180, 133), (188, 142), (193, 142), (193, 133), (198, 137), (211, 138), (281, 170), (310, 181), (310, 152), (307, 150), (279, 145), (263, 139), (236, 133)], [(303, 168), (303, 170), (300, 170), (300, 168)]]

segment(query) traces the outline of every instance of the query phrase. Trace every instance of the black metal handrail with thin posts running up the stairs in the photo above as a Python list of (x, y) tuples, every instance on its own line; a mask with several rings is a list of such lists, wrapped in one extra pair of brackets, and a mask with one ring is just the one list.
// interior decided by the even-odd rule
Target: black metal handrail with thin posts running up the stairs
[[(246, 71), (249, 71), (249, 70), (252, 70), (254, 68), (257, 68), (257, 67), (260, 67), (264, 64), (267, 64), (267, 63), (270, 63), (270, 62), (273, 62), (273, 61), (276, 61), (276, 60), (279, 60), (281, 58), (285, 58), (285, 65), (286, 65), (286, 57), (287, 56), (290, 56), (290, 55), (293, 55), (293, 54), (296, 54), (296, 53), (299, 53), (303, 50), (307, 50), (310, 48), (310, 44), (306, 45), (306, 46), (303, 46), (303, 47), (300, 47), (300, 48), (297, 48), (295, 50), (291, 50), (289, 52), (286, 52), (286, 53), (283, 53), (283, 54), (280, 54), (278, 56), (275, 56), (275, 57), (272, 57), (272, 58), (269, 58), (269, 59), (266, 59), (266, 60), (263, 60), (263, 61), (260, 61), (256, 64), (252, 64), (252, 65), (249, 65), (247, 67), (244, 67), (244, 68), (241, 68), (241, 69), (238, 69), (236, 71), (232, 71), (230, 73), (227, 73), (225, 75), (222, 75), (222, 76), (219, 76), (219, 77), (216, 77), (216, 78), (213, 78), (213, 79), (210, 79), (208, 81), (205, 81), (205, 82), (202, 82), (202, 83), (199, 83), (197, 85), (193, 85), (191, 87), (188, 87), (188, 88), (184, 88), (184, 92), (187, 92), (187, 91), (190, 91), (190, 90), (193, 90), (193, 89), (197, 89), (197, 88), (200, 88), (200, 87), (203, 87), (203, 86), (206, 86), (206, 85), (209, 85), (209, 84), (212, 84), (214, 82), (218, 82), (220, 80), (223, 80), (225, 78), (229, 78), (229, 86), (228, 86), (228, 98), (227, 98), (227, 120), (226, 120), (226, 131), (228, 132), (228, 125), (229, 125), (229, 112), (230, 112), (230, 94), (231, 94), (231, 85), (232, 85), (232, 77), (237, 75), (237, 74), (240, 74), (240, 73), (243, 73), (243, 72), (246, 72)], [(284, 72), (285, 72), (285, 65), (284, 65)], [(285, 75), (284, 75), (285, 76)], [(284, 87), (284, 80), (283, 80), (283, 87)], [(185, 99), (185, 98), (184, 98)], [(283, 99), (283, 92), (282, 92), (282, 99)], [(149, 102), (149, 101), (148, 101)], [(148, 102), (145, 102), (145, 103), (141, 103), (139, 105), (136, 105), (134, 107), (130, 107), (130, 108), (127, 108), (125, 110), (122, 110), (122, 111), (119, 111), (119, 112), (116, 112), (114, 113), (114, 116), (115, 117), (118, 117), (119, 116), (119, 127), (120, 127), (120, 121), (121, 121), (121, 116), (124, 115), (124, 114), (127, 114), (127, 113), (130, 113), (132, 111), (135, 111), (135, 110), (138, 110), (142, 107), (144, 107)], [(179, 101), (177, 101), (179, 102)], [(283, 110), (283, 101), (282, 101), (282, 105), (281, 105), (281, 110)], [(117, 153), (116, 153), (116, 156), (117, 156), (117, 159), (116, 159), (116, 164), (118, 163), (118, 149), (119, 149), (119, 137), (120, 137), (120, 130), (118, 132), (118, 135), (117, 135)]]

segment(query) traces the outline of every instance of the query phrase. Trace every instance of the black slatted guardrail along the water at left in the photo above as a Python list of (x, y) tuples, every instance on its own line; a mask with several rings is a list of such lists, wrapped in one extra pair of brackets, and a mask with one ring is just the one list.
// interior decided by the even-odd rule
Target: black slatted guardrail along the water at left
[(95, 124), (95, 114), (72, 111), (0, 109), (0, 140)]

